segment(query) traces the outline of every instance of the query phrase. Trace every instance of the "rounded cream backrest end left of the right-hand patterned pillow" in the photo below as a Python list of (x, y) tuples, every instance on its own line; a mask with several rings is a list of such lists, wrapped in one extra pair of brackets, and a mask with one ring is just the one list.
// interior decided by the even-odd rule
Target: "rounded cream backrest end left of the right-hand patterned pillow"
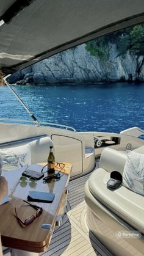
[(123, 174), (124, 165), (126, 163), (126, 152), (114, 150), (112, 148), (104, 148), (101, 153), (99, 167), (112, 172), (117, 170)]

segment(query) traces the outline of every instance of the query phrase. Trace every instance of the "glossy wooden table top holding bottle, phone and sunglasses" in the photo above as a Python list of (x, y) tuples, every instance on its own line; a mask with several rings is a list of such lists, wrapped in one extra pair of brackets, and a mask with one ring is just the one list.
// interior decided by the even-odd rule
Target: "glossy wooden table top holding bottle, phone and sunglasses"
[[(34, 164), (29, 166), (29, 169), (41, 172), (46, 163)], [(50, 242), (52, 230), (56, 222), (57, 214), (62, 205), (63, 197), (65, 196), (65, 187), (68, 185), (71, 172), (71, 164), (64, 163), (65, 167), (61, 171), (59, 181), (52, 180), (48, 184), (43, 184), (43, 179), (37, 183), (31, 183), (29, 178), (27, 181), (20, 181), (24, 167), (15, 170), (3, 171), (2, 175), (7, 179), (9, 186), (10, 201), (1, 205), (0, 208), (0, 233), (2, 245), (21, 249), (30, 252), (45, 251)], [(56, 173), (60, 170), (56, 167)], [(46, 167), (43, 172), (46, 171)], [(45, 173), (47, 176), (47, 172)], [(29, 207), (23, 200), (27, 200), (29, 191), (53, 192), (55, 194), (52, 203), (31, 202), (43, 208), (43, 213), (28, 226), (21, 225), (15, 218), (15, 207), (18, 217), (24, 221), (29, 216), (35, 216), (35, 209)], [(42, 224), (51, 224), (52, 229), (42, 229)]]

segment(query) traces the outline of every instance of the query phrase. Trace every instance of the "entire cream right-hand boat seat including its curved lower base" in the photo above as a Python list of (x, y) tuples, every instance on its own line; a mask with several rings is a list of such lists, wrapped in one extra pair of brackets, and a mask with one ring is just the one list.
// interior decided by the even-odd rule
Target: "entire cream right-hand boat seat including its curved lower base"
[[(134, 151), (144, 153), (144, 146), (135, 148)], [(110, 172), (117, 170), (123, 175), (125, 163), (126, 152), (104, 148), (99, 168), (85, 183), (86, 219), (89, 229), (113, 255), (128, 256), (131, 255), (129, 250), (143, 255), (143, 196), (122, 185), (114, 191), (107, 189)], [(122, 238), (117, 235), (119, 231), (140, 232), (140, 236), (137, 239), (127, 236)], [(107, 235), (107, 232), (112, 236)]]

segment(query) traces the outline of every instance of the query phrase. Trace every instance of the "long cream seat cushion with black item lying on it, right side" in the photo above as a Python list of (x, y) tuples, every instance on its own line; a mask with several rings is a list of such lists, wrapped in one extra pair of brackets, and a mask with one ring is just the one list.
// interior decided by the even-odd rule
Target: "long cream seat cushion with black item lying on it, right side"
[(144, 233), (143, 196), (124, 186), (120, 186), (115, 191), (110, 191), (106, 185), (109, 178), (110, 173), (105, 169), (98, 168), (95, 170), (88, 179), (90, 192), (99, 202), (117, 214), (123, 221), (139, 230), (139, 232)]

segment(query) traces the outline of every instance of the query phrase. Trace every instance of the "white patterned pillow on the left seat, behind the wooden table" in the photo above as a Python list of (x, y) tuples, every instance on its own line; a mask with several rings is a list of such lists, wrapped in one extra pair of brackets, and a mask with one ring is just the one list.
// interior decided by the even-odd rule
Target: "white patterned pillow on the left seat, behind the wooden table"
[(19, 147), (0, 149), (2, 164), (7, 166), (26, 166), (31, 164), (31, 150), (29, 144)]

